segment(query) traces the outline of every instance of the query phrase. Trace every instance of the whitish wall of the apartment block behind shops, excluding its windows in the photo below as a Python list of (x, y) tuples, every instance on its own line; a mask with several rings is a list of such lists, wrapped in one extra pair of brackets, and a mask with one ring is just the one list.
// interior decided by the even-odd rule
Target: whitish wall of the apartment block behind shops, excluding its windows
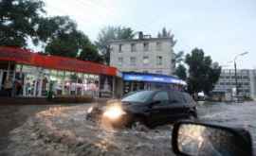
[[(156, 43), (161, 43), (161, 50), (157, 50)], [(136, 43), (136, 52), (131, 51), (131, 44)], [(143, 43), (149, 43), (149, 50), (144, 51)], [(122, 44), (122, 51), (119, 52), (119, 44)], [(111, 43), (110, 65), (118, 67), (122, 72), (145, 72), (156, 73), (161, 71), (164, 75), (173, 74), (173, 43), (170, 39), (160, 40), (135, 40)], [(143, 57), (149, 57), (149, 63), (143, 63)], [(162, 57), (162, 65), (156, 64), (156, 57)], [(130, 58), (135, 57), (136, 65), (132, 65)], [(123, 63), (119, 64), (119, 58), (123, 59)]]

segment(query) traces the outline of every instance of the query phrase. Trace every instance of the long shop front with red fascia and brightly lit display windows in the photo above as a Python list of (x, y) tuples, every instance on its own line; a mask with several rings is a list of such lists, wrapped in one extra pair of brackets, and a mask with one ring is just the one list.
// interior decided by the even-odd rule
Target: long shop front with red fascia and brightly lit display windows
[[(52, 93), (53, 96), (99, 97), (104, 90), (112, 97), (115, 88), (110, 82), (116, 76), (114, 67), (0, 47), (2, 96), (46, 97)], [(107, 80), (101, 82), (101, 78)], [(104, 84), (107, 87), (101, 87)]]

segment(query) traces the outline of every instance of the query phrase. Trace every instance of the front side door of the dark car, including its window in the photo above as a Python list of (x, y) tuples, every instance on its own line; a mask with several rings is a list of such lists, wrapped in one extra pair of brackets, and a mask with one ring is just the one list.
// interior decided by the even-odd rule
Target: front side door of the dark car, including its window
[(163, 124), (167, 121), (168, 117), (168, 109), (169, 107), (169, 95), (166, 91), (159, 91), (157, 92), (153, 98), (152, 103), (155, 103), (152, 105), (151, 108), (151, 123), (154, 125)]

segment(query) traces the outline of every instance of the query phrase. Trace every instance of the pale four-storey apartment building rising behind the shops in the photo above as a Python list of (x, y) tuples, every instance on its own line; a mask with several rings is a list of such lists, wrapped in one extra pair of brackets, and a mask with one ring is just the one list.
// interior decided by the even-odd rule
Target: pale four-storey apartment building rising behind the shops
[(151, 38), (140, 33), (138, 39), (112, 41), (110, 65), (122, 72), (174, 73), (174, 38)]

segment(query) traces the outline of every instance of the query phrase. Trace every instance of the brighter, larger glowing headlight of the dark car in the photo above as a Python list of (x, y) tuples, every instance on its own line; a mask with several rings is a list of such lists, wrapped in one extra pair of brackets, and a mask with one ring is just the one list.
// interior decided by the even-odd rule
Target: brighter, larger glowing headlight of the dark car
[(106, 111), (103, 113), (103, 116), (115, 120), (123, 114), (125, 114), (125, 112), (121, 109), (121, 107), (118, 105), (114, 105), (106, 108)]

